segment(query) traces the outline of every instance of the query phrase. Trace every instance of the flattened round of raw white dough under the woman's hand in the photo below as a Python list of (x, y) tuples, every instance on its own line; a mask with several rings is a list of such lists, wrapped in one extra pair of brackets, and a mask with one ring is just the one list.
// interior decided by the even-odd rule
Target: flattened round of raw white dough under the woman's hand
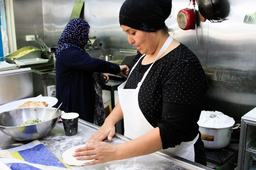
[(94, 161), (95, 159), (93, 159), (93, 160), (76, 160), (76, 158), (72, 156), (73, 153), (75, 153), (76, 148), (81, 148), (83, 146), (86, 146), (86, 145), (84, 144), (84, 145), (73, 146), (72, 148), (69, 148), (68, 150), (63, 152), (63, 154), (62, 154), (63, 161), (65, 163), (67, 163), (68, 165), (74, 165), (74, 166), (83, 166), (83, 163)]

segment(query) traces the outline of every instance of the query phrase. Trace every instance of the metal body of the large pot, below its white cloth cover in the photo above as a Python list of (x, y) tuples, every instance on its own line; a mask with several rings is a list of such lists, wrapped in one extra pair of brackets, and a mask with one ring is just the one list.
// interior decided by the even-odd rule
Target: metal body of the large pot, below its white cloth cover
[(233, 129), (237, 129), (239, 126), (240, 124), (235, 124), (231, 127), (220, 129), (199, 126), (201, 139), (203, 140), (205, 148), (225, 148), (230, 144), (231, 133), (233, 132)]

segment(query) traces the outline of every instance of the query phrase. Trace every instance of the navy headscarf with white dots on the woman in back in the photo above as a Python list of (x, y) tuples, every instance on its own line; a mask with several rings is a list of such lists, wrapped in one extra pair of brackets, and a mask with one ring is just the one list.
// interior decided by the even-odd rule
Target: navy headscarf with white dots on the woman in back
[(61, 51), (70, 48), (78, 47), (84, 51), (84, 46), (88, 42), (90, 25), (81, 18), (73, 18), (67, 23), (63, 33), (61, 34), (55, 54), (58, 56)]

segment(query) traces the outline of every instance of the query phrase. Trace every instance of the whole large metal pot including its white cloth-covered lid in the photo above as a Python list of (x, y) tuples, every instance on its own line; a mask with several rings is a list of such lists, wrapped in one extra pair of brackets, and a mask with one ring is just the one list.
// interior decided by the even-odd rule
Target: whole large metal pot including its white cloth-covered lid
[(235, 121), (219, 111), (201, 111), (199, 121), (199, 131), (201, 139), (206, 148), (219, 149), (225, 148), (230, 144), (231, 133), (239, 125), (233, 127)]

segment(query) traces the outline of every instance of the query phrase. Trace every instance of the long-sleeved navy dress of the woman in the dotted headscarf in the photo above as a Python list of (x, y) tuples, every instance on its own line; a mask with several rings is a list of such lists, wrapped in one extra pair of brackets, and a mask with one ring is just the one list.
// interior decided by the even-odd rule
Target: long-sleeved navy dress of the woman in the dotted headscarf
[(120, 67), (92, 58), (77, 47), (67, 48), (56, 57), (56, 98), (60, 110), (76, 112), (79, 118), (93, 123), (95, 90), (92, 72), (117, 74)]

